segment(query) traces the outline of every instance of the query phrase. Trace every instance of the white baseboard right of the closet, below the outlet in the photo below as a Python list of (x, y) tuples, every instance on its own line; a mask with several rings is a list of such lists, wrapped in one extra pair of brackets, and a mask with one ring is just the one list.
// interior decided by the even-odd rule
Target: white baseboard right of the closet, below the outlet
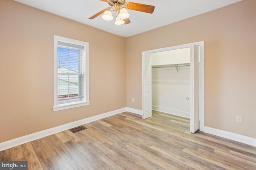
[(207, 127), (207, 126), (204, 127), (204, 132), (205, 133), (210, 133), (212, 135), (216, 135), (216, 136), (219, 136), (219, 137), (224, 137), (224, 138), (227, 138), (227, 139), (231, 139), (231, 140), (234, 140), (234, 141), (238, 141), (238, 142), (241, 142), (241, 143), (245, 143), (245, 144), (248, 144), (248, 145), (252, 145), (252, 146), (256, 147), (256, 139), (252, 138), (252, 137), (247, 137), (247, 136), (239, 135), (239, 134), (236, 134), (236, 133), (222, 131), (222, 130), (214, 129), (212, 127)]

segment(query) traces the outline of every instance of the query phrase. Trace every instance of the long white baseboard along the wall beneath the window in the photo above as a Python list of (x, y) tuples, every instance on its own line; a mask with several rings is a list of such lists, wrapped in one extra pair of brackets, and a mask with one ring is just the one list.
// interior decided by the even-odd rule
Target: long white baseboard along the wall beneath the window
[(46, 136), (52, 135), (54, 133), (65, 131), (65, 130), (71, 129), (73, 127), (84, 125), (84, 124), (90, 123), (92, 121), (96, 121), (96, 120), (99, 120), (99, 119), (103, 119), (105, 117), (116, 115), (118, 113), (122, 113), (122, 112), (125, 112), (125, 111), (126, 111), (126, 107), (124, 107), (122, 109), (117, 109), (117, 110), (114, 110), (114, 111), (109, 111), (109, 112), (106, 112), (106, 113), (102, 113), (100, 115), (95, 115), (95, 116), (92, 116), (92, 117), (81, 119), (81, 120), (78, 120), (78, 121), (74, 121), (74, 122), (71, 122), (71, 123), (67, 123), (65, 125), (60, 125), (60, 126), (57, 126), (57, 127), (46, 129), (44, 131), (40, 131), (40, 132), (32, 133), (32, 134), (29, 134), (29, 135), (26, 135), (26, 136), (18, 137), (16, 139), (12, 139), (10, 141), (5, 141), (5, 142), (0, 143), (0, 151), (5, 150), (5, 149), (9, 149), (9, 148), (12, 148), (12, 147), (15, 147), (15, 146), (18, 146), (18, 145), (21, 145), (21, 144), (24, 144), (24, 143), (27, 143), (27, 142), (30, 142), (30, 141), (34, 141), (36, 139), (40, 139), (42, 137), (46, 137)]

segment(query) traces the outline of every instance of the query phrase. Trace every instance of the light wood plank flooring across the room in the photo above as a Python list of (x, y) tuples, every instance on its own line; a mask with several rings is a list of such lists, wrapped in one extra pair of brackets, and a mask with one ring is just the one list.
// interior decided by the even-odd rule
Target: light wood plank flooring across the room
[(256, 170), (256, 147), (198, 131), (189, 119), (124, 112), (0, 152), (29, 170)]

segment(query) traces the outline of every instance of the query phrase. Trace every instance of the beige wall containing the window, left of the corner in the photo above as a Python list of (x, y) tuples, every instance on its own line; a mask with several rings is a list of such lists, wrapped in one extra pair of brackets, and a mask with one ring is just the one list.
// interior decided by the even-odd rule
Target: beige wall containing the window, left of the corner
[[(89, 43), (90, 106), (52, 111), (54, 35)], [(0, 142), (126, 107), (125, 51), (124, 37), (0, 0)]]

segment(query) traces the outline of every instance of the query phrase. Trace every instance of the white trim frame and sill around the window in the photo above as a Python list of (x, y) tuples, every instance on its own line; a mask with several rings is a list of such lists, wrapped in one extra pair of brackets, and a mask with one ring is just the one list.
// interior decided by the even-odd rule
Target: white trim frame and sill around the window
[[(84, 46), (84, 57), (85, 57), (85, 59), (84, 59), (84, 98), (82, 98), (82, 101), (58, 104), (58, 42)], [(54, 57), (53, 57), (54, 58), (54, 62), (53, 62), (53, 64), (54, 64), (54, 66), (53, 66), (54, 106), (52, 107), (53, 111), (59, 111), (59, 110), (63, 110), (63, 109), (70, 109), (70, 108), (74, 108), (74, 107), (90, 105), (90, 100), (89, 100), (89, 56), (88, 56), (88, 54), (89, 54), (89, 43), (54, 35)]]

